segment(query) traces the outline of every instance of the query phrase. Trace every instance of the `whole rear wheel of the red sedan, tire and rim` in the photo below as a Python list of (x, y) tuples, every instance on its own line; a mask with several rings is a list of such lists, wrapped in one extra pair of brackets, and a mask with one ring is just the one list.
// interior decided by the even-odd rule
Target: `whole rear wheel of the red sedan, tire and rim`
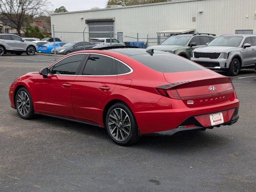
[(122, 146), (134, 144), (140, 138), (133, 112), (123, 103), (116, 103), (109, 108), (106, 130), (111, 139)]

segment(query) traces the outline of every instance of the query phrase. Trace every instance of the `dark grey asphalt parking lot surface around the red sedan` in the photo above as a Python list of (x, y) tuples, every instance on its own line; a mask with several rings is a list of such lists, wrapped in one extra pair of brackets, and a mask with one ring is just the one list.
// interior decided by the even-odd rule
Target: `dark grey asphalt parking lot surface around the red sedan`
[(144, 136), (122, 147), (103, 128), (46, 116), (23, 120), (10, 107), (13, 80), (53, 61), (53, 56), (0, 57), (1, 192), (256, 191), (254, 70), (233, 79), (240, 99), (236, 124)]

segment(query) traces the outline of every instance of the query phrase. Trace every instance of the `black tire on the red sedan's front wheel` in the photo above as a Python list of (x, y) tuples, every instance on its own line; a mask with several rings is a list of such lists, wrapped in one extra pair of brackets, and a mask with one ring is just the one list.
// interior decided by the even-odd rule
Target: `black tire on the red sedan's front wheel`
[[(27, 97), (28, 97), (28, 99), (29, 99), (29, 103), (26, 102), (26, 100), (27, 100), (27, 97), (26, 97), (26, 96), (25, 96), (25, 99), (23, 100), (23, 98), (20, 97), (20, 95), (19, 95), (19, 94), (23, 94), (23, 95), (24, 95), (24, 92), (27, 94)], [(20, 102), (20, 100), (21, 100), (22, 102)], [(22, 104), (22, 103), (24, 103), (23, 101), (25, 102), (25, 105)], [(27, 104), (29, 104), (29, 109), (26, 107), (26, 110), (25, 110), (25, 106), (27, 106)], [(19, 107), (19, 105), (23, 105), (23, 106)], [(21, 118), (23, 118), (23, 119), (32, 119), (32, 118), (35, 116), (33, 101), (32, 101), (32, 99), (31, 99), (31, 96), (30, 96), (30, 94), (29, 94), (29, 91), (28, 91), (26, 88), (24, 88), (24, 87), (20, 88), (20, 89), (17, 91), (16, 95), (15, 95), (15, 106), (16, 106), (18, 115), (19, 115)], [(24, 107), (24, 110), (23, 110), (23, 109), (20, 109), (20, 108), (23, 108), (23, 107)], [(20, 111), (20, 110), (21, 110), (21, 111)], [(27, 114), (24, 114), (23, 112), (24, 112), (24, 113), (26, 112)]]

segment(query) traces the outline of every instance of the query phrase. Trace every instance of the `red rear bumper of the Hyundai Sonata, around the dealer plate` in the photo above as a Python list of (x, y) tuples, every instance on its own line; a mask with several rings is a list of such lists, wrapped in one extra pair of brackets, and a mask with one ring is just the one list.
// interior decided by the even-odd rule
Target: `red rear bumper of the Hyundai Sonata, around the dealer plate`
[[(238, 109), (239, 100), (235, 99), (231, 102), (215, 104), (213, 106), (203, 106), (197, 108), (182, 107), (177, 109), (135, 112), (135, 118), (137, 120), (140, 133), (147, 134), (170, 131), (176, 128), (178, 129), (178, 127), (183, 125), (186, 120), (194, 117), (199, 117), (201, 118), (201, 120), (196, 120), (198, 123), (190, 123), (190, 125), (192, 126), (187, 126), (187, 128), (185, 127), (185, 130), (189, 130), (188, 128), (191, 127), (209, 128), (211, 127), (211, 124), (210, 117), (208, 115), (215, 114), (217, 112), (225, 112), (225, 115), (223, 113), (223, 125), (231, 125), (231, 123), (236, 122), (232, 122), (231, 120), (233, 118), (234, 111), (236, 111), (236, 113), (238, 114)], [(205, 118), (203, 118), (202, 116), (205, 116)], [(195, 125), (193, 126), (193, 124)], [(179, 130), (180, 129), (174, 130), (172, 132), (177, 132)]]

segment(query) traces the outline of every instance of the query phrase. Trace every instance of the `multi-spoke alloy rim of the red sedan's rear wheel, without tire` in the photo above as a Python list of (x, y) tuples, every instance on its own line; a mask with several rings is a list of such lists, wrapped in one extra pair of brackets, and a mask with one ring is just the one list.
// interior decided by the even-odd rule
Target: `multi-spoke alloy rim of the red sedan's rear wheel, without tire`
[(131, 121), (125, 110), (115, 108), (109, 114), (109, 131), (117, 141), (124, 141), (131, 131)]

